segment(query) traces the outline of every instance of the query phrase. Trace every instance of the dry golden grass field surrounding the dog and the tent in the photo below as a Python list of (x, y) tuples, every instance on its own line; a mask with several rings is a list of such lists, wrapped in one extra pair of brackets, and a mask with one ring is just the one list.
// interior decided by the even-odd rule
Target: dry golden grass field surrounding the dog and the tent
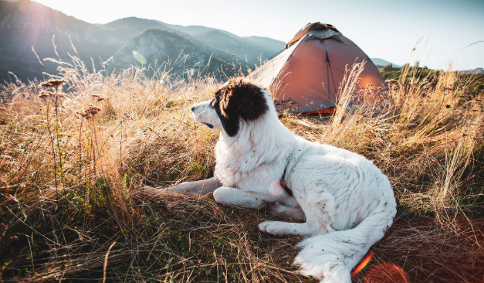
[[(299, 237), (259, 233), (259, 222), (280, 216), (142, 189), (212, 176), (218, 133), (189, 106), (220, 82), (141, 68), (106, 75), (75, 57), (59, 68), (44, 86), (1, 88), (2, 282), (313, 282), (292, 265)], [(364, 155), (391, 180), (398, 215), (354, 282), (378, 266), (398, 266), (410, 282), (483, 282), (480, 78), (416, 72), (389, 81), (381, 115), (337, 107), (281, 121)]]

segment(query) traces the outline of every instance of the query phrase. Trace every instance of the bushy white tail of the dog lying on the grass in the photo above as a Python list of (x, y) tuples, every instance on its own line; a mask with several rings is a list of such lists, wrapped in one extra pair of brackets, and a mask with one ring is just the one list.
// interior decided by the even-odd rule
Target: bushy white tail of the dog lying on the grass
[[(393, 211), (396, 213), (395, 208)], [(300, 242), (297, 247), (301, 252), (294, 261), (301, 266), (299, 273), (321, 282), (350, 283), (350, 271), (383, 237), (395, 213), (375, 211), (351, 230), (316, 235)]]

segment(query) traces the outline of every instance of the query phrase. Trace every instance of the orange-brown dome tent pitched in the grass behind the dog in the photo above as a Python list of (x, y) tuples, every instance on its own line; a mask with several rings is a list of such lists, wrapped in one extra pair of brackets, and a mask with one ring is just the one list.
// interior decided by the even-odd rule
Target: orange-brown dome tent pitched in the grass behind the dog
[(353, 41), (329, 24), (308, 23), (248, 79), (272, 92), (278, 113), (334, 113), (346, 67), (362, 61), (366, 63), (354, 95), (369, 87), (373, 95), (387, 90), (378, 68)]

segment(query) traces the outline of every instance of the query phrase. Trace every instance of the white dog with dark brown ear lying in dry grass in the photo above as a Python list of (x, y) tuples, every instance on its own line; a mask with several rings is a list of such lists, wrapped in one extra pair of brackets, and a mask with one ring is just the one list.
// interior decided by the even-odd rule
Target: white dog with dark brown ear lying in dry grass
[(350, 271), (396, 214), (389, 179), (365, 157), (308, 142), (283, 126), (270, 93), (231, 79), (193, 117), (220, 130), (214, 177), (171, 187), (213, 192), (216, 202), (281, 213), (303, 223), (266, 221), (261, 233), (300, 235), (294, 264), (321, 282), (351, 282)]

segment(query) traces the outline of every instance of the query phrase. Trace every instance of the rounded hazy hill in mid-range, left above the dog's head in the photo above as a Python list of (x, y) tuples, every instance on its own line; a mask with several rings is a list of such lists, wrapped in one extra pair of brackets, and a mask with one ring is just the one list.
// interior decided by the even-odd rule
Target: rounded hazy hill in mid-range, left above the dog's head
[[(113, 55), (116, 68), (129, 68), (131, 65), (139, 65), (139, 61), (133, 57), (133, 50), (143, 55), (144, 64), (160, 66), (163, 62), (169, 62), (172, 73), (182, 74), (185, 70), (198, 72), (205, 69), (206, 72), (215, 72), (221, 68), (223, 61), (203, 52), (193, 41), (160, 28), (148, 28), (136, 37), (129, 40), (120, 50)], [(138, 59), (139, 60), (139, 59)]]

